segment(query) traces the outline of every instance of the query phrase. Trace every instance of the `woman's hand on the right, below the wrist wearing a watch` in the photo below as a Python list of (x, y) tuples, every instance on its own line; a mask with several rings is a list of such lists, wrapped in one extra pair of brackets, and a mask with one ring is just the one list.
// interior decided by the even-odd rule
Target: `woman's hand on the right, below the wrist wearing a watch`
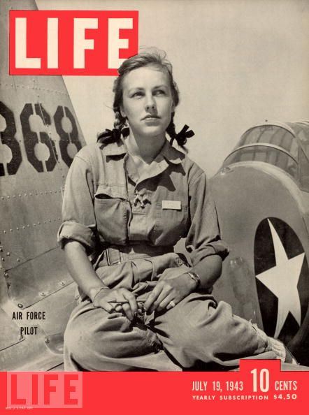
[(179, 277), (163, 279), (149, 294), (145, 301), (145, 310), (148, 314), (154, 310), (169, 310), (192, 293), (195, 287), (196, 283), (187, 273)]

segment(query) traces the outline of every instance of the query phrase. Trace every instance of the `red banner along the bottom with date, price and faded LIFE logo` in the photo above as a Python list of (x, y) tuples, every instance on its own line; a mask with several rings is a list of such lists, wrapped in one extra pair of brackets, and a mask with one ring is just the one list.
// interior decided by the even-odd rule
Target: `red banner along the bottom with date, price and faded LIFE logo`
[[(303, 368), (306, 369), (306, 368)], [(289, 371), (291, 370), (291, 371)], [(309, 403), (309, 372), (280, 361), (240, 361), (237, 372), (0, 372), (0, 413), (270, 413)]]

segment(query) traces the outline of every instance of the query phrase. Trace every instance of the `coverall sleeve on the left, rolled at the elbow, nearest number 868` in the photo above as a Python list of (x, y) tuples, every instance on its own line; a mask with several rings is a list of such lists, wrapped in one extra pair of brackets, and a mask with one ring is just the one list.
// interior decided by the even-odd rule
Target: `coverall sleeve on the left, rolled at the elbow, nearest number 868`
[(63, 248), (68, 240), (80, 242), (90, 254), (96, 246), (92, 167), (76, 155), (66, 177), (62, 203), (62, 225), (58, 243)]

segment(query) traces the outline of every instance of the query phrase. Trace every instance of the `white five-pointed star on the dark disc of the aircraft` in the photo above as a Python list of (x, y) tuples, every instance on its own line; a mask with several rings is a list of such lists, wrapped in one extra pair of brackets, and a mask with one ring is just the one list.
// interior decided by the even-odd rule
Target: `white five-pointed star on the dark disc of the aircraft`
[(269, 219), (267, 220), (273, 238), (275, 267), (261, 272), (256, 277), (278, 297), (278, 316), (274, 335), (274, 337), (278, 337), (289, 312), (291, 312), (294, 319), (301, 326), (301, 302), (299, 300), (297, 284), (299, 282), (305, 253), (288, 259), (278, 233), (275, 231), (271, 221)]

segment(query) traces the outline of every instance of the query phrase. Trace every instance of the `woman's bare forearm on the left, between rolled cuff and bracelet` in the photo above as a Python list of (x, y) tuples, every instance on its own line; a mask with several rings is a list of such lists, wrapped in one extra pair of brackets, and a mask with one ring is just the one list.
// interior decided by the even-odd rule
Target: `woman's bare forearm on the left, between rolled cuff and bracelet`
[(104, 287), (101, 279), (96, 275), (85, 252), (85, 248), (77, 241), (66, 242), (64, 247), (66, 266), (71, 277), (80, 286), (89, 298), (93, 300), (96, 293)]

